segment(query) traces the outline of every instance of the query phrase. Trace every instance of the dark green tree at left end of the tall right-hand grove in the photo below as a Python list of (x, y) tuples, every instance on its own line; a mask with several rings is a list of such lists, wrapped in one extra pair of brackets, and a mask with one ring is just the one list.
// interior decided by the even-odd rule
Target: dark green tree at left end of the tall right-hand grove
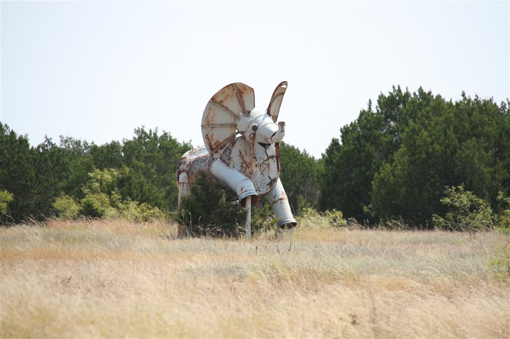
[(368, 211), (372, 181), (384, 162), (400, 148), (401, 130), (412, 119), (406, 109), (411, 94), (393, 87), (380, 94), (375, 111), (369, 100), (358, 119), (340, 129), (323, 155), (322, 210), (341, 210), (347, 217), (375, 221)]

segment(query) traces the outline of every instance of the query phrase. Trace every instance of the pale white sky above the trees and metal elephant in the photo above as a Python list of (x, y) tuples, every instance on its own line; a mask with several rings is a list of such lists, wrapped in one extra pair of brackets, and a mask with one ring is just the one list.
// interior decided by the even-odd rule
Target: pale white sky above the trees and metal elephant
[(0, 121), (31, 144), (96, 144), (144, 125), (203, 145), (231, 82), (264, 110), (289, 82), (284, 141), (320, 157), (400, 84), (456, 100), (510, 96), (510, 2), (1, 1)]

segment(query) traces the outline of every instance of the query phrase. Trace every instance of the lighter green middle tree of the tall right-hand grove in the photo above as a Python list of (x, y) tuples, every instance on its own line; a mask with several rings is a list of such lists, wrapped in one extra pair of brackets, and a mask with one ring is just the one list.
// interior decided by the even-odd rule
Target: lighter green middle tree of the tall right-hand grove
[(456, 147), (452, 106), (430, 92), (410, 99), (407, 107), (415, 116), (402, 129), (401, 146), (372, 182), (371, 206), (380, 218), (401, 216), (421, 224), (444, 210), (439, 203), (443, 187), (456, 184), (449, 160)]

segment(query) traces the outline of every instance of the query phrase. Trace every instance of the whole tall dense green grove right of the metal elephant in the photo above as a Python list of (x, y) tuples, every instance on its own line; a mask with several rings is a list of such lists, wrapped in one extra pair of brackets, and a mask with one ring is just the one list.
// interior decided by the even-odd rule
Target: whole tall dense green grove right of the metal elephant
[(320, 207), (430, 225), (446, 212), (443, 187), (465, 183), (499, 210), (498, 191), (510, 189), (509, 112), (508, 102), (464, 93), (455, 103), (421, 88), (381, 94), (326, 150)]

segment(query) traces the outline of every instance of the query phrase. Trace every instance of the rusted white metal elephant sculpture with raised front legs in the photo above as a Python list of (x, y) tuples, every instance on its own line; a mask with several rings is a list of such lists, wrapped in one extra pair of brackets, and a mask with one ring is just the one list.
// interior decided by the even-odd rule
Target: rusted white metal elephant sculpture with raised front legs
[[(221, 182), (233, 189), (239, 204), (246, 208), (246, 235), (251, 236), (251, 204), (259, 194), (268, 194), (279, 229), (292, 229), (292, 216), (287, 195), (279, 179), (279, 142), (285, 135), (285, 122), (278, 122), (287, 81), (273, 92), (265, 112), (253, 111), (255, 95), (244, 83), (228, 84), (206, 105), (202, 115), (202, 136), (205, 146), (186, 152), (177, 165), (179, 206), (183, 195), (200, 171), (211, 171)], [(185, 235), (185, 228), (179, 228)]]

